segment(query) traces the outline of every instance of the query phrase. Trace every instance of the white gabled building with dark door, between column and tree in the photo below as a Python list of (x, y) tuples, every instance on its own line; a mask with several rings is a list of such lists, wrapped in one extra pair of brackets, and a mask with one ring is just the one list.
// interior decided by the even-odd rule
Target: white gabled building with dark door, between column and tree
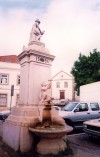
[(54, 99), (74, 100), (74, 78), (61, 70), (52, 77), (52, 97)]

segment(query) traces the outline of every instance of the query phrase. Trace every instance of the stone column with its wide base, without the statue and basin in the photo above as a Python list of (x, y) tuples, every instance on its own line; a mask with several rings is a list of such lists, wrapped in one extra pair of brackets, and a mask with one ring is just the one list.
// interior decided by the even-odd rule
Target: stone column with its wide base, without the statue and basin
[(21, 65), (20, 104), (12, 108), (4, 122), (3, 141), (15, 151), (27, 152), (34, 142), (29, 127), (40, 121), (41, 82), (50, 80), (54, 56), (44, 43), (32, 41), (18, 57)]

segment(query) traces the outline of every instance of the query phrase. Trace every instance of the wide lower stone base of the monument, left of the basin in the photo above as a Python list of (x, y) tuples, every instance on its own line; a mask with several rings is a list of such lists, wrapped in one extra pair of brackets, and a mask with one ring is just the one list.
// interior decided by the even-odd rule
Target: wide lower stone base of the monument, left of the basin
[(3, 142), (15, 151), (30, 151), (34, 136), (29, 132), (29, 127), (37, 122), (39, 122), (37, 106), (14, 107), (3, 124)]

